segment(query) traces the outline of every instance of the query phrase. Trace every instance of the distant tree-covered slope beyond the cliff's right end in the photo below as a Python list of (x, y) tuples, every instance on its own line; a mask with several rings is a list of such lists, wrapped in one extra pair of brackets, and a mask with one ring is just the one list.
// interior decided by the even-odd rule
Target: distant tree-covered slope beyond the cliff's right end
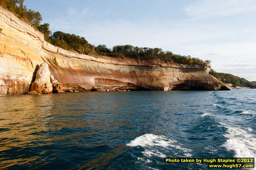
[(240, 78), (238, 76), (234, 76), (232, 74), (227, 74), (227, 73), (218, 73), (212, 69), (209, 73), (223, 83), (233, 84), (234, 87), (240, 86), (240, 87), (256, 88), (256, 84), (249, 82), (245, 78)]

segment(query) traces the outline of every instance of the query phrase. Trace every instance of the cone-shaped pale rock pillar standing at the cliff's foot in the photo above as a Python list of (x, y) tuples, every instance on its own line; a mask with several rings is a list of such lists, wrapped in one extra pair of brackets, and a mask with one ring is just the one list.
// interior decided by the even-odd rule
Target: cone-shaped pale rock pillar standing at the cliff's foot
[(43, 62), (40, 65), (35, 82), (32, 83), (30, 90), (40, 94), (50, 94), (53, 92), (53, 84), (51, 84), (51, 72), (46, 62)]

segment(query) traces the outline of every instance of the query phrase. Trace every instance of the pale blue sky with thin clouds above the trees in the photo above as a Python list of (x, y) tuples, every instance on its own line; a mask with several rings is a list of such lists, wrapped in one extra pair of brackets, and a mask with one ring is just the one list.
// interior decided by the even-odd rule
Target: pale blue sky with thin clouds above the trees
[(255, 0), (25, 0), (43, 22), (94, 45), (158, 47), (256, 81)]

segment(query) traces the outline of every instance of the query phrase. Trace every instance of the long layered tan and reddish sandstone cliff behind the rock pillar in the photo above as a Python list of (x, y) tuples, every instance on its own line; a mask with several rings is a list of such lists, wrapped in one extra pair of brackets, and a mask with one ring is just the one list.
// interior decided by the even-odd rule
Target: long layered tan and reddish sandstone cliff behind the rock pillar
[[(43, 62), (62, 83), (63, 91), (229, 90), (205, 66), (63, 50), (45, 42), (41, 32), (0, 7), (0, 94), (23, 94), (30, 86), (34, 88), (32, 83)], [(54, 89), (61, 91), (58, 84)]]

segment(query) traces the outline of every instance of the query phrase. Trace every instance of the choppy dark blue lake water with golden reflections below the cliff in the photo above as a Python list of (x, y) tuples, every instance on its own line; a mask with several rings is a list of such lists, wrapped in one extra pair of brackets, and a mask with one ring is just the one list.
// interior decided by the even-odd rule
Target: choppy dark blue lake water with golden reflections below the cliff
[(256, 90), (0, 96), (0, 169), (207, 169), (256, 157)]

